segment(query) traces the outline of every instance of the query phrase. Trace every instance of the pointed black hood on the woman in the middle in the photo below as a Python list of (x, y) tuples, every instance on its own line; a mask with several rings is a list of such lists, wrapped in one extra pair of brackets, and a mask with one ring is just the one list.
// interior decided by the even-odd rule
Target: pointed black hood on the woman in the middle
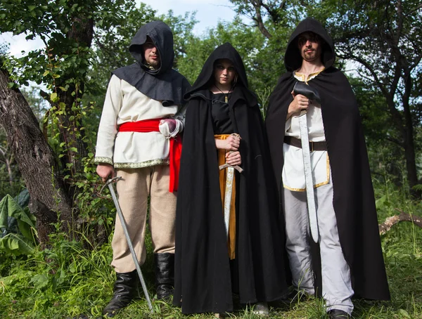
[[(205, 61), (205, 64), (198, 75), (192, 88), (185, 94), (185, 100), (188, 100), (193, 93), (198, 91), (209, 91), (211, 83), (214, 81), (214, 66), (217, 60), (228, 59), (233, 63), (236, 69), (238, 79), (234, 88), (235, 96), (242, 98), (248, 102), (249, 105), (255, 105), (257, 103), (255, 94), (248, 89), (248, 78), (246, 77), (245, 66), (241, 55), (236, 51), (229, 42), (218, 46)], [(208, 94), (205, 94), (208, 96)], [(237, 99), (237, 98), (236, 98)]]

